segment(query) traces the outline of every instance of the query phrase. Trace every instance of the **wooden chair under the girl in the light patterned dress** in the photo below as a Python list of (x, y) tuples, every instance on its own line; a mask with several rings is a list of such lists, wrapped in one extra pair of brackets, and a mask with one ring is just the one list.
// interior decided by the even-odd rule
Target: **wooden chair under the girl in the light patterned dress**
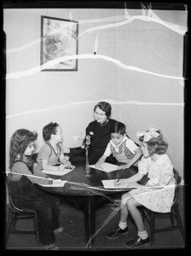
[[(171, 212), (167, 212), (167, 213), (153, 212), (151, 210), (148, 210), (148, 208), (146, 208), (146, 207), (141, 207), (142, 218), (143, 218), (143, 220), (146, 218), (146, 220), (148, 221), (148, 224), (150, 226), (151, 246), (153, 246), (153, 244), (154, 244), (154, 233), (168, 231), (168, 230), (179, 229), (181, 231), (182, 238), (184, 241), (184, 230), (183, 230), (183, 226), (182, 226), (181, 216), (180, 216), (180, 213), (178, 210), (178, 190), (179, 190), (179, 186), (181, 183), (181, 177), (179, 176), (177, 170), (174, 169), (173, 172), (174, 172), (174, 177), (176, 180), (176, 189), (175, 189), (174, 201), (171, 206)], [(171, 219), (171, 225), (156, 228), (155, 227), (155, 218), (158, 214), (169, 215), (170, 219)], [(175, 223), (175, 220), (176, 220), (176, 223)]]

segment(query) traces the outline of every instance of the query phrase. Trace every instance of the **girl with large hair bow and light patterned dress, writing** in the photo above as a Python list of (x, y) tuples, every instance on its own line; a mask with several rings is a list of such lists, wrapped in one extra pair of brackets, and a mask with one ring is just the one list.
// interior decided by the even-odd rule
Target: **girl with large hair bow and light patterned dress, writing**
[(125, 246), (129, 248), (140, 247), (150, 241), (142, 214), (137, 207), (144, 206), (154, 212), (170, 212), (175, 193), (173, 166), (165, 154), (168, 144), (161, 131), (151, 127), (147, 132), (138, 132), (137, 137), (140, 137), (142, 141), (143, 152), (142, 160), (138, 165), (139, 172), (123, 181), (116, 182), (116, 186), (140, 181), (147, 172), (149, 180), (145, 186), (137, 183), (140, 189), (132, 189), (122, 195), (119, 228), (107, 235), (108, 239), (115, 239), (127, 234), (127, 218), (130, 212), (138, 232), (135, 239), (125, 242)]

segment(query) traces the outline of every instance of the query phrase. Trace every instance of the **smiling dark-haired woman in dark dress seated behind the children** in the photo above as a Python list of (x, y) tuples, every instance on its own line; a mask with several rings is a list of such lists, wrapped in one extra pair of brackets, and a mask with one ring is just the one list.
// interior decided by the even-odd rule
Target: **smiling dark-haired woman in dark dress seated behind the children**
[[(104, 153), (107, 143), (110, 140), (110, 127), (113, 125), (114, 119), (110, 119), (112, 113), (112, 107), (108, 102), (99, 102), (94, 107), (95, 120), (90, 122), (86, 128), (86, 136), (84, 143), (78, 148), (67, 148), (64, 147), (64, 152), (71, 154), (70, 160), (78, 161), (85, 160), (85, 149), (86, 137), (90, 137), (89, 145), (89, 162), (90, 165), (95, 165), (97, 160), (101, 158)], [(111, 157), (107, 158), (108, 162), (115, 163), (116, 160)]]

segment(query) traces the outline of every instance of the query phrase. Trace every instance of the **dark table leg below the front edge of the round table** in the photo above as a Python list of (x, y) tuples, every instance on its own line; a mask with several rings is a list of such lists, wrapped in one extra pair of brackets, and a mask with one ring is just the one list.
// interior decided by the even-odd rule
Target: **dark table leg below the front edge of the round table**
[(91, 236), (96, 231), (95, 196), (85, 196), (84, 221), (86, 241), (88, 242), (88, 247), (91, 247), (93, 244)]

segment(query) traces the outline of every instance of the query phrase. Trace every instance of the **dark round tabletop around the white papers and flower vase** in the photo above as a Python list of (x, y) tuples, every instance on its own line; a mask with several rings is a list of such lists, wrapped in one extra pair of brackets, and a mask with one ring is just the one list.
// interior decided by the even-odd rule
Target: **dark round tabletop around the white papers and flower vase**
[[(125, 189), (104, 189), (101, 180), (116, 179), (130, 177), (137, 172), (137, 167), (132, 166), (124, 170), (116, 170), (113, 172), (103, 172), (95, 168), (90, 168), (90, 177), (85, 177), (84, 163), (76, 164), (76, 167), (71, 172), (63, 176), (49, 175), (52, 178), (67, 180), (64, 187), (41, 187), (45, 191), (60, 195), (106, 195), (113, 194)], [(129, 189), (126, 189), (129, 190)]]

